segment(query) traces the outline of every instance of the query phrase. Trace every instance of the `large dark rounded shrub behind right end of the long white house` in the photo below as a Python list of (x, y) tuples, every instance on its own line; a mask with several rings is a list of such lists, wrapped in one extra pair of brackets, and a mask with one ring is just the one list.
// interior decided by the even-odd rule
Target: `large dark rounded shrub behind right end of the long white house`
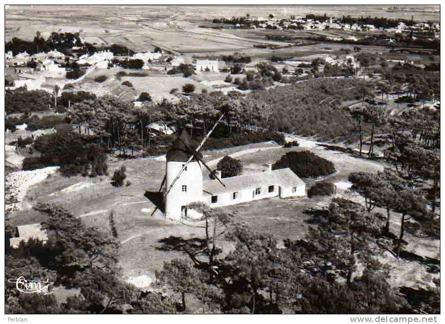
[(274, 170), (290, 168), (296, 175), (308, 178), (335, 172), (331, 161), (320, 158), (309, 151), (287, 152), (272, 166)]

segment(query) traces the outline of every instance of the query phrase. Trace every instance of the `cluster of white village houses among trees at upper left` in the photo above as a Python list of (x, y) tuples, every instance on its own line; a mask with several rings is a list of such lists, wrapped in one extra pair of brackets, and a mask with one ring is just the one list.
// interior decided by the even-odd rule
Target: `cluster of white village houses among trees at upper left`
[[(73, 47), (76, 51), (79, 47)], [(217, 60), (192, 60), (181, 55), (157, 52), (135, 53), (132, 56), (115, 55), (110, 50), (102, 50), (92, 54), (68, 56), (57, 50), (39, 52), (30, 55), (26, 51), (13, 55), (12, 51), (5, 53), (5, 76), (13, 80), (7, 80), (6, 89), (12, 90), (26, 87), (27, 90), (44, 89), (42, 85), (47, 79), (65, 79), (63, 85), (81, 81), (94, 69), (109, 69), (120, 66), (122, 63), (132, 63), (129, 66), (146, 70), (157, 71), (166, 74), (168, 70), (174, 71), (182, 65), (190, 65), (197, 73), (205, 71), (218, 72), (224, 66), (224, 62)], [(75, 67), (73, 67), (75, 66)], [(68, 74), (73, 69), (79, 69), (82, 73), (71, 78)], [(172, 72), (173, 73), (173, 72)], [(63, 86), (62, 85), (62, 86)]]

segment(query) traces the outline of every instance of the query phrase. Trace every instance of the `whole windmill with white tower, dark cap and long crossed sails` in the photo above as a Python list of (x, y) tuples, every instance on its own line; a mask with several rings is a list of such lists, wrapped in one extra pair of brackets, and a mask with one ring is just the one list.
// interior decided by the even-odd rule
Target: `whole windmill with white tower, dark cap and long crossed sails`
[[(183, 130), (167, 153), (166, 172), (159, 187), (159, 192), (161, 192), (165, 184), (164, 202), (166, 216), (171, 213), (173, 215), (171, 218), (177, 218), (177, 214), (183, 213), (184, 210), (187, 214), (187, 204), (202, 199), (202, 165), (209, 170), (210, 174), (222, 186), (226, 187), (215, 174), (215, 171), (202, 160), (202, 154), (199, 152), (222, 118), (224, 118), (224, 114), (219, 117), (195, 149), (191, 148), (190, 137)], [(180, 178), (183, 183), (177, 185)], [(156, 210), (157, 208), (155, 208), (152, 215)]]

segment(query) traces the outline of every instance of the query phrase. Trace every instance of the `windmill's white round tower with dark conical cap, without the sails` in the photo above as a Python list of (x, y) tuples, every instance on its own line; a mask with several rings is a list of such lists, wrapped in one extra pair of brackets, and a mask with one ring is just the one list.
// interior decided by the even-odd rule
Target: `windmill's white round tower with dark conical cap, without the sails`
[[(189, 135), (183, 130), (180, 138), (175, 140), (173, 146), (168, 151), (164, 192), (167, 192), (181, 171), (182, 166), (187, 163), (187, 160), (192, 155), (187, 149), (187, 147), (191, 148), (190, 142)], [(184, 143), (187, 144), (187, 147)], [(200, 157), (202, 158), (202, 156)], [(164, 197), (165, 216), (177, 221), (180, 220), (181, 216), (190, 216), (190, 213), (193, 211), (188, 210), (186, 206), (191, 202), (202, 201), (202, 189), (202, 166), (199, 161), (193, 159)]]

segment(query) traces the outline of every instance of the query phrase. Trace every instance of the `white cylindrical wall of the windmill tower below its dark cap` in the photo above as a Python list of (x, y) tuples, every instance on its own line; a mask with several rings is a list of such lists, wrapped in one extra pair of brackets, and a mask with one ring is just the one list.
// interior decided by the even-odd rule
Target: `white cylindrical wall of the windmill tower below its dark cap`
[[(186, 162), (170, 161), (166, 163), (167, 177), (165, 188), (168, 190), (181, 170), (182, 165)], [(187, 192), (182, 192), (182, 185), (187, 186)], [(181, 218), (181, 206), (195, 201), (202, 201), (202, 166), (199, 162), (190, 162), (187, 165), (187, 171), (184, 170), (182, 172), (165, 197), (165, 216), (178, 221)]]

